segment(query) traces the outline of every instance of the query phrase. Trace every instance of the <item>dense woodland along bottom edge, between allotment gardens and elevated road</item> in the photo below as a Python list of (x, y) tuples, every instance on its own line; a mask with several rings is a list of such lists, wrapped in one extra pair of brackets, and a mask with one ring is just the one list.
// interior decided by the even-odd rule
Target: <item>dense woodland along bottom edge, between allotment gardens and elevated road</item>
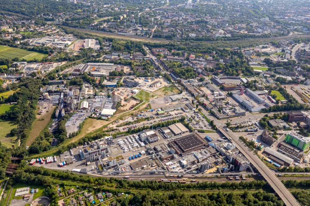
[(213, 192), (201, 194), (186, 194), (177, 191), (168, 193), (134, 193), (130, 199), (121, 199), (120, 205), (142, 206), (220, 206), (220, 205), (272, 205), (283, 206), (283, 201), (272, 193), (245, 191), (241, 194), (232, 192)]

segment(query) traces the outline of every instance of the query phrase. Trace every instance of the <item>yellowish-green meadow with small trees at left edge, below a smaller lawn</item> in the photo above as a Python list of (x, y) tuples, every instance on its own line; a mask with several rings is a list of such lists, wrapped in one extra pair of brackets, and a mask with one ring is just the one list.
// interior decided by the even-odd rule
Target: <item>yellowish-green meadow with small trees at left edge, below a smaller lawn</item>
[(16, 137), (12, 137), (10, 131), (16, 127), (15, 121), (0, 122), (0, 141), (7, 148), (11, 148), (15, 144)]

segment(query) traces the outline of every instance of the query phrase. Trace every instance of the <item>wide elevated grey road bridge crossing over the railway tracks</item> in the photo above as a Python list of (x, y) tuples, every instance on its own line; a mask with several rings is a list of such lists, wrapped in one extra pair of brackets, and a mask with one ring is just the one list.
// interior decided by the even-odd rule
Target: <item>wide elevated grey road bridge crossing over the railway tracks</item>
[(290, 191), (282, 184), (282, 182), (272, 173), (272, 171), (252, 152), (245, 148), (240, 142), (239, 138), (233, 134), (230, 130), (226, 131), (222, 127), (218, 127), (225, 136), (232, 138), (232, 142), (236, 144), (236, 147), (240, 152), (252, 163), (253, 166), (259, 171), (260, 174), (266, 179), (268, 184), (274, 189), (274, 191), (283, 200), (286, 206), (299, 205)]

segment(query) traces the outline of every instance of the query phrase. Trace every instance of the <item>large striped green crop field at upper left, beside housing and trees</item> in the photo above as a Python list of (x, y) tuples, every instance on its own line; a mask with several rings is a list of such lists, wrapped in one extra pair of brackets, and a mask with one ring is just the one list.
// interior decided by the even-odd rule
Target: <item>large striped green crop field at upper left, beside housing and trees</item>
[(40, 54), (38, 52), (27, 51), (20, 48), (13, 48), (9, 46), (0, 46), (0, 58), (3, 59), (26, 59), (31, 61), (33, 59), (41, 60), (43, 57), (46, 57), (47, 54)]

